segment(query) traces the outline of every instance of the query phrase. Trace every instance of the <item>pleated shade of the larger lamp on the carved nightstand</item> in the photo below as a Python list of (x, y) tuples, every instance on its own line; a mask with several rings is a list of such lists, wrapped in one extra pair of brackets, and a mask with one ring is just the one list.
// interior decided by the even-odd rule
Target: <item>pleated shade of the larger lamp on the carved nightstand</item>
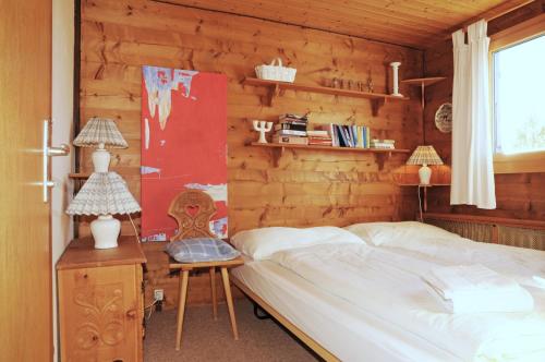
[(125, 181), (116, 172), (94, 172), (72, 200), (69, 215), (133, 214), (141, 210)]

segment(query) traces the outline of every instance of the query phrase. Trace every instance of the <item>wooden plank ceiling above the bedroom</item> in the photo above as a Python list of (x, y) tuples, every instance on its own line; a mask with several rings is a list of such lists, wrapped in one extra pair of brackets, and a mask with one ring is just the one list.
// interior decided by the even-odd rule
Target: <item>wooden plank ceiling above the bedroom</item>
[(165, 0), (301, 25), (366, 39), (427, 48), (480, 17), (497, 16), (524, 0)]

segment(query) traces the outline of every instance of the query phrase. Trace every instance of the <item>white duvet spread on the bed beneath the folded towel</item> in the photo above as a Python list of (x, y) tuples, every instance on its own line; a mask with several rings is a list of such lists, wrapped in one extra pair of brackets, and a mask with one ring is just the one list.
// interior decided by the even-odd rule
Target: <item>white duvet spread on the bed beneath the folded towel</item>
[[(513, 257), (508, 254), (504, 256)], [(538, 256), (543, 263), (543, 255)], [(284, 251), (272, 258), (316, 288), (460, 360), (545, 361), (545, 291), (541, 288), (525, 286), (534, 297), (534, 312), (449, 314), (431, 298), (422, 277), (444, 263), (456, 264), (453, 256), (437, 261), (425, 254), (408, 256), (401, 250), (329, 244)], [(520, 280), (532, 269), (542, 272), (541, 265), (531, 267), (532, 260), (518, 262), (526, 266), (519, 273), (511, 268)]]

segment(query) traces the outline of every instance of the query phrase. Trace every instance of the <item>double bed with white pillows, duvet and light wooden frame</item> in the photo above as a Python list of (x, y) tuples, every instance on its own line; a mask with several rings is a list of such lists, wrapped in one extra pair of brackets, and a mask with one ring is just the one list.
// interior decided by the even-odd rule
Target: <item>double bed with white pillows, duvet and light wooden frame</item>
[[(245, 264), (231, 279), (327, 361), (545, 361), (544, 252), (398, 226), (252, 230), (233, 237)], [(521, 283), (533, 312), (446, 313), (422, 275), (472, 263)]]

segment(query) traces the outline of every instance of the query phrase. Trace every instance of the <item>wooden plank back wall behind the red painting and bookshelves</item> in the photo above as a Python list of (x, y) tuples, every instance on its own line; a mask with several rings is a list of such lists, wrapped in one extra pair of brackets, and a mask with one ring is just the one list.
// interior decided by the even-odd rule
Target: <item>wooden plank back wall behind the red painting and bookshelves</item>
[[(112, 150), (111, 169), (138, 197), (141, 67), (221, 72), (228, 76), (230, 234), (265, 226), (412, 218), (415, 193), (398, 188), (390, 173), (408, 155), (392, 156), (380, 168), (373, 154), (287, 150), (274, 167), (270, 150), (244, 143), (256, 138), (247, 119), (311, 111), (313, 125), (355, 122), (371, 126), (378, 137), (397, 140), (399, 148), (412, 149), (422, 141), (417, 89), (402, 87), (412, 99), (388, 102), (375, 117), (366, 99), (307, 93), (286, 92), (268, 107), (266, 89), (240, 82), (254, 75), (254, 65), (274, 57), (298, 68), (296, 81), (306, 84), (332, 77), (365, 81), (371, 71), (375, 92), (387, 92), (390, 61), (402, 62), (401, 79), (422, 76), (423, 71), (422, 51), (405, 47), (153, 1), (87, 0), (82, 2), (81, 123), (93, 116), (117, 120), (130, 147)], [(82, 171), (92, 170), (89, 152), (82, 152)], [(126, 222), (123, 232), (131, 232)], [(88, 233), (87, 222), (82, 222), (81, 233)], [(167, 298), (174, 297), (168, 289), (177, 283), (166, 276), (162, 245), (145, 248), (152, 255), (149, 289), (167, 286)], [(197, 300), (205, 301), (205, 294)]]

